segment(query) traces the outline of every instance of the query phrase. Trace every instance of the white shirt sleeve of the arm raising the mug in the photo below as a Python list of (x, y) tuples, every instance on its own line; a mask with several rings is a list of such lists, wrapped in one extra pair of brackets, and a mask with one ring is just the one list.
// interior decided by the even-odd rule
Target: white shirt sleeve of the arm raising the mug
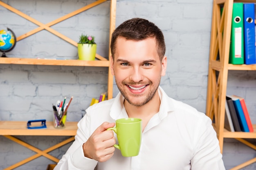
[(85, 114), (77, 126), (75, 141), (65, 155), (63, 155), (54, 170), (94, 170), (97, 166), (98, 161), (87, 158), (83, 154), (83, 143), (90, 136), (90, 117), (88, 114)]

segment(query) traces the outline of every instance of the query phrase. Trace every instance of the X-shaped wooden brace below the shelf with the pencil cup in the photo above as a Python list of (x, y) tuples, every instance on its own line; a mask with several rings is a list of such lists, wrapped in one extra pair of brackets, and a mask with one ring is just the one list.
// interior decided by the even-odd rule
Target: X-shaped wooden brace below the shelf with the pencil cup
[(38, 149), (38, 148), (36, 148), (34, 146), (31, 146), (31, 145), (27, 144), (26, 142), (21, 141), (20, 139), (18, 139), (16, 137), (13, 137), (13, 136), (10, 136), (10, 135), (3, 135), (3, 136), (8, 138), (8, 139), (10, 139), (10, 140), (12, 140), (13, 142), (16, 142), (16, 143), (18, 143), (18, 144), (20, 144), (20, 145), (22, 145), (22, 146), (24, 146), (24, 147), (26, 147), (26, 148), (28, 148), (30, 150), (33, 150), (34, 152), (37, 153), (36, 155), (33, 155), (33, 156), (28, 157), (27, 159), (24, 159), (24, 160), (22, 160), (22, 161), (20, 161), (20, 162), (18, 162), (16, 164), (13, 164), (12, 166), (9, 166), (8, 168), (5, 168), (4, 170), (12, 170), (14, 168), (17, 168), (18, 166), (21, 166), (21, 165), (23, 165), (23, 164), (25, 164), (25, 163), (27, 163), (27, 162), (29, 162), (31, 160), (34, 160), (34, 159), (38, 158), (40, 156), (47, 157), (48, 159), (58, 163), (59, 159), (56, 158), (56, 157), (53, 157), (52, 155), (49, 155), (48, 153), (51, 152), (54, 149), (57, 149), (57, 148), (65, 145), (65, 144), (68, 144), (69, 142), (72, 142), (75, 139), (74, 136), (72, 136), (72, 137), (70, 137), (70, 138), (68, 138), (68, 139), (66, 139), (66, 140), (64, 140), (64, 141), (62, 141), (62, 142), (60, 142), (60, 143), (58, 143), (58, 144), (48, 148), (48, 149), (40, 150), (40, 149)]

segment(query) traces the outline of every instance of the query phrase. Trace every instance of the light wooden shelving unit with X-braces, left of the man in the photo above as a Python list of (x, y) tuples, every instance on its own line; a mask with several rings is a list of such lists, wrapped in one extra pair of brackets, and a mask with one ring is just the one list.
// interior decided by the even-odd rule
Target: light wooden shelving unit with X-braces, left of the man
[[(92, 7), (97, 6), (98, 4), (101, 4), (103, 2), (106, 2), (107, 0), (97, 0), (95, 2), (92, 2), (91, 4), (86, 5), (85, 7), (82, 7), (81, 9), (78, 9), (76, 11), (73, 11), (63, 17), (60, 17), (52, 22), (49, 22), (47, 24), (43, 24), (29, 15), (26, 15), (25, 13), (22, 13), (21, 11), (18, 11), (17, 9), (14, 9), (13, 7), (9, 6), (8, 4), (0, 1), (0, 6), (12, 11), (13, 13), (16, 13), (17, 15), (20, 15), (21, 17), (25, 18), (26, 20), (29, 20), (30, 22), (33, 22), (34, 24), (38, 25), (38, 28), (31, 30), (24, 35), (21, 35), (17, 37), (17, 41), (20, 41), (30, 35), (33, 35), (35, 33), (38, 33), (39, 31), (45, 29), (49, 31), (50, 33), (53, 33), (54, 35), (62, 38), (63, 40), (69, 42), (70, 44), (77, 46), (77, 43), (73, 41), (72, 39), (69, 39), (68, 37), (65, 37), (61, 33), (55, 31), (54, 29), (50, 28), (50, 26), (57, 24), (63, 20), (66, 20), (74, 15), (77, 15), (87, 9), (90, 9)], [(116, 17), (116, 0), (110, 0), (110, 29), (109, 29), (109, 43), (111, 40), (111, 35), (113, 31), (115, 30), (115, 17)], [(99, 54), (96, 54), (97, 60), (95, 61), (81, 61), (81, 60), (58, 60), (58, 59), (33, 59), (33, 58), (3, 58), (0, 57), (0, 64), (21, 64), (21, 65), (63, 65), (63, 66), (91, 66), (91, 67), (108, 67), (108, 99), (112, 98), (113, 93), (113, 76), (110, 72), (110, 49), (109, 49), (109, 56), (108, 59), (100, 56)], [(9, 166), (8, 168), (5, 168), (4, 170), (12, 170), (14, 168), (17, 168), (18, 166), (21, 166), (33, 159), (36, 159), (40, 156), (47, 157), (48, 159), (55, 161), (58, 163), (59, 159), (56, 157), (53, 157), (47, 153), (50, 151), (59, 148), (69, 142), (72, 142), (74, 140), (74, 135), (76, 135), (77, 130), (77, 122), (66, 122), (66, 126), (64, 129), (55, 129), (53, 127), (53, 122), (46, 122), (46, 129), (27, 129), (27, 122), (22, 121), (0, 121), (0, 135), (7, 137), (8, 139), (25, 146), (26, 148), (33, 150), (36, 152), (36, 155), (33, 155), (29, 158), (26, 158), (18, 163), (13, 164), (12, 166)], [(63, 142), (60, 142), (46, 150), (39, 150), (38, 148), (35, 148), (34, 146), (31, 146), (20, 139), (13, 137), (13, 135), (45, 135), (45, 136), (71, 136), (70, 138), (64, 140)]]

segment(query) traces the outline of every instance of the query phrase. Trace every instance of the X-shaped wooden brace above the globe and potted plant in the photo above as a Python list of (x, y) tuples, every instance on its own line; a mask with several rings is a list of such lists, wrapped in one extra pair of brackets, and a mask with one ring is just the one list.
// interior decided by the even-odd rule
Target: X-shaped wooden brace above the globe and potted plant
[[(43, 23), (35, 20), (34, 18), (30, 17), (29, 15), (26, 15), (25, 13), (22, 13), (21, 11), (18, 11), (17, 9), (9, 6), (8, 4), (6, 4), (6, 3), (4, 3), (2, 1), (0, 1), (0, 5), (2, 5), (6, 9), (9, 9), (10, 11), (12, 11), (13, 13), (16, 13), (17, 15), (20, 15), (21, 17), (23, 17), (23, 18), (29, 20), (30, 22), (33, 22), (34, 24), (39, 26), (38, 28), (35, 28), (34, 30), (31, 30), (31, 31), (29, 31), (29, 32), (27, 32), (27, 33), (17, 37), (17, 41), (20, 41), (21, 39), (24, 39), (24, 38), (26, 38), (26, 37), (28, 37), (30, 35), (33, 35), (33, 34), (39, 32), (39, 31), (42, 31), (43, 29), (45, 29), (45, 30), (49, 31), (50, 33), (53, 33), (54, 35), (60, 37), (61, 39), (65, 40), (65, 41), (69, 42), (70, 44), (72, 44), (72, 45), (77, 47), (77, 42), (76, 41), (74, 41), (74, 40), (66, 37), (65, 35), (59, 33), (58, 31), (50, 28), (50, 26), (53, 26), (54, 24), (62, 22), (63, 20), (66, 20), (66, 19), (68, 19), (70, 17), (73, 17), (74, 15), (77, 15), (77, 14), (79, 14), (79, 13), (81, 13), (81, 12), (87, 10), (87, 9), (95, 7), (98, 4), (101, 4), (101, 3), (105, 2), (105, 1), (107, 1), (107, 0), (97, 0), (95, 2), (92, 2), (91, 4), (86, 5), (85, 7), (77, 9), (76, 11), (73, 11), (73, 12), (67, 14), (67, 15), (64, 15), (63, 17), (60, 17), (60, 18), (58, 18), (58, 19), (56, 19), (56, 20), (54, 20), (52, 22), (49, 22), (47, 24), (43, 24)], [(100, 56), (99, 54), (96, 54), (96, 58), (99, 59), (99, 60), (107, 60), (104, 57)]]

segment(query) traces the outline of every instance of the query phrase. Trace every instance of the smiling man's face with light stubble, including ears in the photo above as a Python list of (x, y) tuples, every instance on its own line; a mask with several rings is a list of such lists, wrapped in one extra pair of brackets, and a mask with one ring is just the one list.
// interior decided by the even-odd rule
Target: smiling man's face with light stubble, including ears
[(159, 60), (155, 38), (141, 41), (117, 38), (111, 73), (124, 98), (134, 106), (145, 105), (165, 75), (166, 57)]

